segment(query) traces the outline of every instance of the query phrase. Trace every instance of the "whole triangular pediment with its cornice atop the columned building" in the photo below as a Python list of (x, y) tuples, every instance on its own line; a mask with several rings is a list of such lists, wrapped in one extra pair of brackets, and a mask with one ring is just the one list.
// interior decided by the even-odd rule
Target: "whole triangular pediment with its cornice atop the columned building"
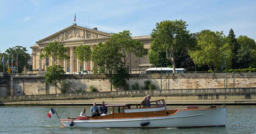
[(101, 32), (86, 27), (80, 27), (77, 25), (71, 25), (62, 31), (37, 41), (36, 43), (40, 44), (54, 41), (75, 41), (81, 39), (106, 38), (111, 36), (112, 34), (106, 32)]

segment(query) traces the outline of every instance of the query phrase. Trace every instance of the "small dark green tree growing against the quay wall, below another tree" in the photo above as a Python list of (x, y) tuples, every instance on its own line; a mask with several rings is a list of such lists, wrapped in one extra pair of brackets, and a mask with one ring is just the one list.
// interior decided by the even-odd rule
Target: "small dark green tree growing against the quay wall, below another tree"
[(64, 70), (62, 66), (53, 64), (52, 66), (47, 67), (47, 72), (45, 73), (45, 82), (55, 84), (55, 92), (57, 94), (57, 81), (61, 80), (64, 75)]

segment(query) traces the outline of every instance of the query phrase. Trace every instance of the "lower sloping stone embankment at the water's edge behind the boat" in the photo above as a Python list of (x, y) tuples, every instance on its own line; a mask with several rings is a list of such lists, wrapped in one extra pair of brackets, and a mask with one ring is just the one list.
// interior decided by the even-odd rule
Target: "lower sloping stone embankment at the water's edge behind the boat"
[(256, 104), (256, 88), (208, 88), (12, 96), (0, 97), (0, 105), (92, 105), (101, 101), (140, 103), (147, 94), (152, 96), (151, 100), (164, 99), (171, 105)]

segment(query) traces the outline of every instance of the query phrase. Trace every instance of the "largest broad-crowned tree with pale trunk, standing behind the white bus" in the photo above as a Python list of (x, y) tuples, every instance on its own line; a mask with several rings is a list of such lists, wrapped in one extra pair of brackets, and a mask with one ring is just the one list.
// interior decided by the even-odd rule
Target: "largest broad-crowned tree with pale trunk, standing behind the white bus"
[(183, 20), (165, 20), (156, 23), (152, 30), (149, 61), (159, 60), (162, 52), (165, 52), (175, 71), (175, 60), (185, 56), (184, 51), (192, 47), (192, 35), (187, 31), (187, 24)]

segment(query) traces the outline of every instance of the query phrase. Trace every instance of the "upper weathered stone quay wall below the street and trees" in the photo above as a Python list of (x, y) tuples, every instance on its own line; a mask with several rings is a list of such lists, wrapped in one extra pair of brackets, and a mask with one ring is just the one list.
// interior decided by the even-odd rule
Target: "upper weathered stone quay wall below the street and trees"
[[(0, 73), (0, 97), (17, 95), (45, 95), (54, 94), (55, 85), (45, 83), (44, 74), (7, 74)], [(10, 78), (13, 86), (11, 87)], [(64, 81), (70, 83), (66, 93), (88, 92), (90, 85), (95, 86), (99, 92), (110, 91), (109, 80), (104, 75), (64, 75)], [(130, 74), (125, 79), (131, 90), (131, 85), (138, 82), (144, 86), (145, 80), (150, 80), (156, 86), (156, 90), (173, 89), (204, 89), (225, 88), (225, 73), (185, 73), (185, 74)], [(162, 81), (162, 82), (161, 82)], [(162, 84), (161, 84), (162, 83)], [(162, 85), (162, 86), (161, 86)], [(227, 73), (227, 88), (256, 87), (256, 73)], [(57, 84), (57, 93), (61, 84)], [(113, 88), (112, 91), (117, 89)], [(118, 91), (122, 91), (120, 87)]]

